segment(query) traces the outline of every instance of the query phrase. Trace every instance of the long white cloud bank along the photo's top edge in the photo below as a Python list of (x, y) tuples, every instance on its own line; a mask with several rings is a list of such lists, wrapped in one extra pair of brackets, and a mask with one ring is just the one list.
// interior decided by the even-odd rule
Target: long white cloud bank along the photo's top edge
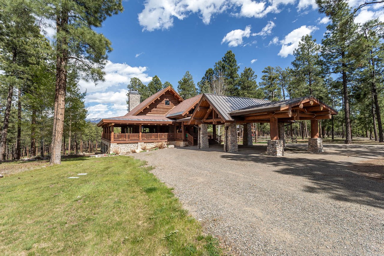
[[(304, 0), (300, 0), (302, 1)], [(137, 18), (143, 30), (153, 31), (168, 29), (172, 27), (174, 18), (183, 20), (191, 13), (197, 13), (204, 24), (209, 24), (212, 17), (226, 10), (230, 10), (236, 17), (262, 18), (268, 13), (280, 12), (280, 6), (295, 2), (296, 0), (147, 0)]]

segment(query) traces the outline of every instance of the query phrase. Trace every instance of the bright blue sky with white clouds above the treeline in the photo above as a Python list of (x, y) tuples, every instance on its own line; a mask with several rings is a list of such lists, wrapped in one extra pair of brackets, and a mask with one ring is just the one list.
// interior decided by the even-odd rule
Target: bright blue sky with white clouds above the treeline
[[(132, 77), (148, 83), (157, 75), (177, 88), (188, 70), (196, 84), (227, 50), (235, 53), (239, 73), (251, 67), (260, 81), (266, 66), (290, 65), (303, 35), (321, 43), (329, 23), (314, 0), (129, 0), (123, 5), (124, 12), (97, 29), (114, 49), (106, 81), (80, 83), (87, 90), (88, 118), (124, 115)], [(365, 8), (356, 19), (372, 17), (384, 17), (382, 5)]]

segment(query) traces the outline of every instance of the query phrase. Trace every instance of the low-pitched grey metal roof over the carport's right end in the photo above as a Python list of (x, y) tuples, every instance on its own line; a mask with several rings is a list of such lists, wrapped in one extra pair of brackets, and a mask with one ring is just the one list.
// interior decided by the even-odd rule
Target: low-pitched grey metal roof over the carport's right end
[[(260, 111), (268, 111), (268, 110), (275, 110), (275, 109), (280, 109), (283, 106), (288, 106), (292, 105), (295, 103), (299, 103), (303, 100), (309, 100), (310, 98), (314, 98), (313, 96), (304, 96), (300, 98), (293, 98), (293, 99), (288, 99), (288, 100), (280, 100), (280, 101), (273, 101), (273, 102), (268, 102), (260, 105), (253, 105), (253, 106), (245, 106), (243, 108), (239, 108), (237, 110), (230, 111), (230, 115), (232, 116), (238, 116), (238, 115), (244, 115), (244, 114), (252, 114), (252, 113), (257, 113)], [(314, 98), (316, 99), (316, 98)], [(318, 99), (316, 99), (319, 101)], [(321, 101), (319, 101), (321, 102)], [(325, 103), (321, 102), (323, 105), (327, 106), (328, 108), (331, 108), (330, 106), (326, 105)], [(334, 110), (333, 108), (331, 108)], [(334, 110), (336, 111), (336, 110)], [(336, 111), (337, 112), (337, 111)]]

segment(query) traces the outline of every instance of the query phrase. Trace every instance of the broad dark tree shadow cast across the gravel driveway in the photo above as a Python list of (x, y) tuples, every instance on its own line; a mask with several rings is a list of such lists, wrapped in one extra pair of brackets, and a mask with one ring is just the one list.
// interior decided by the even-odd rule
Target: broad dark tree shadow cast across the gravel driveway
[(325, 193), (334, 200), (384, 209), (383, 183), (354, 173), (351, 170), (355, 164), (348, 161), (313, 159), (306, 156), (273, 157), (262, 154), (230, 154), (222, 155), (221, 158), (278, 166), (278, 170), (275, 170), (277, 173), (301, 176), (311, 181), (312, 185), (303, 187), (304, 192)]

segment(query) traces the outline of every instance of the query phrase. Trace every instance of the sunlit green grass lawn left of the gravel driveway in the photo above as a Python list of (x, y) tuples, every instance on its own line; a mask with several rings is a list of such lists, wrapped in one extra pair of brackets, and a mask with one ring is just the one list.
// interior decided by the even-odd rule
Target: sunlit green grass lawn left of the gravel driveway
[[(81, 157), (5, 176), (0, 254), (222, 254), (144, 164), (127, 156)], [(68, 179), (78, 173), (88, 175)]]

